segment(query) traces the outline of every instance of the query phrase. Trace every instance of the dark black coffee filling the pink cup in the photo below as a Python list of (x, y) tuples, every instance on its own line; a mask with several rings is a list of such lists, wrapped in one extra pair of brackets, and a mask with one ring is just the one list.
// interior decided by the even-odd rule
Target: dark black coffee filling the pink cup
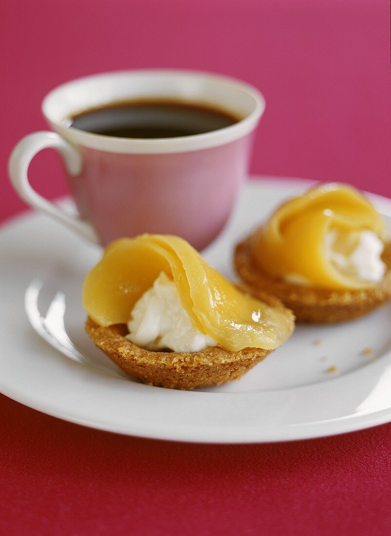
[(119, 138), (176, 138), (222, 129), (238, 121), (240, 117), (212, 106), (143, 100), (85, 110), (64, 124)]

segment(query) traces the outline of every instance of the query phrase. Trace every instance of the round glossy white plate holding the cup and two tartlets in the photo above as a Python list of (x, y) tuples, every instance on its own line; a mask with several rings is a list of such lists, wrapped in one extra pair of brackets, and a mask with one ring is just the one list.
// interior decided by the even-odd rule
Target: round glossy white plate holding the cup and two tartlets
[[(205, 258), (233, 278), (234, 244), (308, 184), (271, 177), (248, 184)], [(391, 228), (391, 201), (372, 200)], [(84, 333), (80, 293), (99, 248), (43, 215), (28, 214), (2, 227), (0, 251), (0, 390), (36, 410), (122, 434), (216, 443), (297, 440), (391, 420), (390, 306), (345, 324), (299, 325), (240, 381), (175, 391), (124, 376)], [(61, 352), (29, 324), (26, 289), (35, 328)], [(363, 354), (366, 348), (372, 353)], [(327, 371), (331, 366), (337, 373)]]

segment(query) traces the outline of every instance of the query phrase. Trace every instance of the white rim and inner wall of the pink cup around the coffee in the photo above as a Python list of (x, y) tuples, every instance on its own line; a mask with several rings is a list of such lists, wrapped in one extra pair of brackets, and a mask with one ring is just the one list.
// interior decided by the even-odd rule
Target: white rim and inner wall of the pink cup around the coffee
[[(241, 110), (243, 118), (225, 128), (176, 138), (135, 139), (103, 136), (66, 127), (62, 124), (65, 117), (83, 109), (101, 106), (113, 100), (120, 100), (119, 91), (126, 92), (127, 84), (132, 81), (140, 85), (142, 81), (154, 81), (161, 84), (161, 91), (170, 95), (172, 85), (176, 85), (171, 96), (188, 100), (204, 101), (222, 105), (231, 110)], [(92, 91), (93, 87), (99, 91)], [(153, 84), (148, 86), (155, 87)], [(141, 87), (141, 86), (140, 86)], [(110, 88), (115, 88), (116, 97), (110, 98)], [(211, 98), (208, 99), (208, 91)], [(125, 93), (124, 93), (125, 94)], [(153, 95), (153, 92), (150, 93)], [(79, 100), (78, 100), (79, 98)], [(127, 95), (129, 98), (129, 95)], [(219, 99), (225, 102), (219, 102)], [(241, 80), (204, 71), (180, 69), (142, 69), (128, 71), (111, 71), (98, 75), (71, 80), (51, 90), (42, 101), (42, 113), (51, 128), (69, 142), (89, 147), (98, 151), (113, 153), (159, 154), (197, 151), (205, 148), (225, 145), (252, 132), (265, 109), (265, 99), (254, 86)]]

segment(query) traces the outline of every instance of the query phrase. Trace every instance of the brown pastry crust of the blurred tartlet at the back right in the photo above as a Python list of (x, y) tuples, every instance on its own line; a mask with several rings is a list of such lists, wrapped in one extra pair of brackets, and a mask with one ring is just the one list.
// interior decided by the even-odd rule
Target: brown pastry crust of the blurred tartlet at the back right
[(298, 321), (320, 324), (348, 321), (380, 307), (391, 297), (391, 242), (386, 244), (382, 256), (388, 266), (382, 281), (359, 291), (334, 291), (294, 285), (270, 277), (255, 264), (253, 236), (248, 236), (235, 249), (236, 271), (246, 281), (254, 297), (260, 292), (274, 294), (292, 309)]

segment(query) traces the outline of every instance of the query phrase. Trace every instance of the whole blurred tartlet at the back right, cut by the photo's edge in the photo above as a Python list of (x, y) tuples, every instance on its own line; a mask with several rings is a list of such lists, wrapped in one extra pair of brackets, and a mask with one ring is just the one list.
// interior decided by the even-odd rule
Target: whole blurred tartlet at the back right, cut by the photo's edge
[(237, 245), (234, 264), (254, 297), (277, 296), (299, 321), (347, 321), (391, 297), (385, 222), (348, 185), (323, 184), (283, 203)]

